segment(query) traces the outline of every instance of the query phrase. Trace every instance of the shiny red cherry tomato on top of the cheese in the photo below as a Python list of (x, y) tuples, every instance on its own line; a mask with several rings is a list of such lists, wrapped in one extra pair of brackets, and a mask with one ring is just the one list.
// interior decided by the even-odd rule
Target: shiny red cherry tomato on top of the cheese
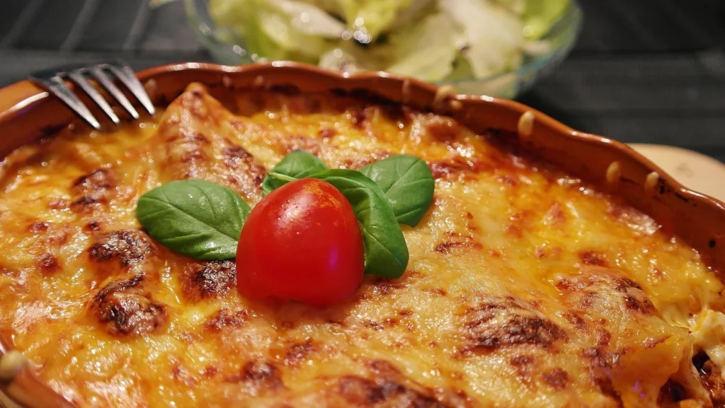
[(305, 178), (269, 193), (239, 237), (239, 291), (251, 299), (335, 304), (363, 279), (363, 234), (345, 196)]

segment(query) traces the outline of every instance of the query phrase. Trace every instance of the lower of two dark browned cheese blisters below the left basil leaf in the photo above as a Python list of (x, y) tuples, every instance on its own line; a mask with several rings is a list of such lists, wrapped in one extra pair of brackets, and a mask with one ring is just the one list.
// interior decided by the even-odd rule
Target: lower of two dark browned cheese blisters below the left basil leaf
[(116, 280), (102, 288), (91, 301), (91, 312), (107, 333), (115, 336), (143, 336), (155, 333), (166, 324), (164, 304), (152, 301), (138, 286), (137, 275)]

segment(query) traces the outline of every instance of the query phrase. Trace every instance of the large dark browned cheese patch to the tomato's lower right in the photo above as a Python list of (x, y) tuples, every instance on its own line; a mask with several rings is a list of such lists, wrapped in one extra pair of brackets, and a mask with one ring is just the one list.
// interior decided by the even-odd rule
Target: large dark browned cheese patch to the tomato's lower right
[(508, 297), (481, 297), (463, 313), (464, 351), (531, 345), (548, 349), (566, 333), (534, 307)]

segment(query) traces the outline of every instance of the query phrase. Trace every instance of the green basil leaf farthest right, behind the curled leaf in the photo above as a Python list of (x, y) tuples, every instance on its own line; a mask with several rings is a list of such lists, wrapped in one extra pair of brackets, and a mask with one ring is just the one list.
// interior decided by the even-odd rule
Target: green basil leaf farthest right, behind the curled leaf
[(390, 200), (399, 223), (415, 227), (433, 202), (435, 180), (426, 162), (400, 154), (367, 165), (360, 172), (373, 180)]

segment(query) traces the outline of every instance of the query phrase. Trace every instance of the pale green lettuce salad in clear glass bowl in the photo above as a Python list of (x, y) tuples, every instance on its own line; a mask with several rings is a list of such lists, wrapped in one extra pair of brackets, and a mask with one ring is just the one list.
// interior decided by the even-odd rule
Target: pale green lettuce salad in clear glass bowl
[(386, 71), (509, 98), (563, 60), (581, 28), (575, 0), (186, 0), (186, 7), (224, 64)]

